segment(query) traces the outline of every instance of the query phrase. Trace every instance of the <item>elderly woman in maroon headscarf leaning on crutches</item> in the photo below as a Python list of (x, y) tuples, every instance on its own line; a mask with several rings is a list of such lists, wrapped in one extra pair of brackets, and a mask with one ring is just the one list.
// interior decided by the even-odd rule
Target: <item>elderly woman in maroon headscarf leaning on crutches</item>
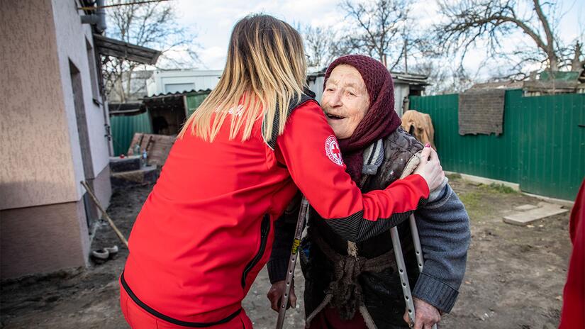
[[(324, 87), (323, 111), (339, 140), (347, 172), (362, 192), (412, 172), (423, 145), (399, 128), (394, 87), (384, 65), (362, 55), (340, 57), (328, 67)], [(289, 206), (276, 223), (268, 263), (273, 283), (268, 297), (275, 311), (296, 223), (294, 208)], [(469, 218), (447, 179), (431, 191), (415, 216), (425, 256), (420, 275), (408, 223), (399, 225), (399, 233), (414, 286), (415, 328), (430, 329), (457, 299), (469, 247)], [(355, 244), (323, 225), (311, 209), (300, 257), (307, 327), (408, 328), (389, 231)], [(290, 296), (294, 305), (294, 291)]]

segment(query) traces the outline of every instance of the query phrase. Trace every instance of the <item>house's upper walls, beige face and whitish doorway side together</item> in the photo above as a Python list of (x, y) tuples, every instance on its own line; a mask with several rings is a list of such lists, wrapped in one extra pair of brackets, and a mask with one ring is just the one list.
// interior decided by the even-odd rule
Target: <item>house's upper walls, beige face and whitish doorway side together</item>
[(59, 0), (0, 3), (0, 90), (9, 95), (0, 101), (0, 209), (78, 201), (85, 192), (69, 61), (82, 77), (93, 167), (87, 179), (108, 167), (108, 119), (92, 99), (86, 50), (93, 38), (77, 6)]

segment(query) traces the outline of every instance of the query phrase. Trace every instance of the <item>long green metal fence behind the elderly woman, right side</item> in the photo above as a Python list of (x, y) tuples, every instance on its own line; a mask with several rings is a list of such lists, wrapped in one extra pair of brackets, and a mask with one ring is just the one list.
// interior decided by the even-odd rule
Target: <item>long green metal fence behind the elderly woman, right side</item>
[(528, 193), (572, 200), (585, 176), (585, 94), (524, 97), (506, 91), (503, 133), (459, 135), (457, 94), (411, 96), (433, 119), (445, 170), (520, 184)]

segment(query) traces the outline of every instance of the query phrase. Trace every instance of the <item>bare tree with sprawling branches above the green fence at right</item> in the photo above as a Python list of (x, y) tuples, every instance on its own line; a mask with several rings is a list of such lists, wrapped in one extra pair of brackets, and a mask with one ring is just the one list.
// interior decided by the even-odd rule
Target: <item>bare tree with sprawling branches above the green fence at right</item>
[[(528, 6), (526, 13), (522, 13), (522, 6)], [(528, 77), (525, 67), (535, 64), (551, 71), (569, 67), (580, 71), (585, 64), (581, 60), (581, 43), (575, 41), (573, 51), (563, 45), (555, 33), (554, 9), (554, 4), (541, 4), (539, 0), (463, 0), (456, 3), (441, 0), (440, 12), (447, 19), (435, 25), (434, 34), (438, 45), (450, 53), (459, 52), (462, 57), (467, 55), (469, 47), (486, 42), (488, 55), (515, 60), (510, 77)], [(519, 45), (516, 50), (505, 51), (506, 38), (518, 31), (528, 36), (533, 47)]]

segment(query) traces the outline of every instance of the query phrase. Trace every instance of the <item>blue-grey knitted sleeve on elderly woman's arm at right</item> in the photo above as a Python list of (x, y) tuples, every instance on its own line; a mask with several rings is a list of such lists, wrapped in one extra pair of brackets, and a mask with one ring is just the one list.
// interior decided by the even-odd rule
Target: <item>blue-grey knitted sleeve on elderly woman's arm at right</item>
[(469, 216), (449, 184), (415, 213), (425, 264), (413, 296), (449, 313), (465, 274)]

